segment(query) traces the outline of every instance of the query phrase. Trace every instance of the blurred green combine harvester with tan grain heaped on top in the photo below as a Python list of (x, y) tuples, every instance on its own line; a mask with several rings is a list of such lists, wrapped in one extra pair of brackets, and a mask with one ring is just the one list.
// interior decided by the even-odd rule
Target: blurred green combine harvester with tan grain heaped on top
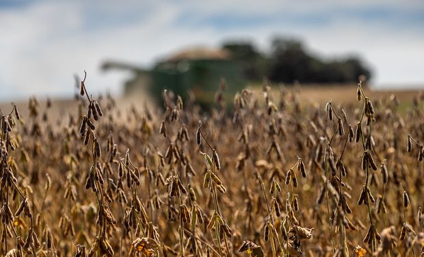
[(181, 95), (183, 99), (187, 99), (189, 93), (192, 93), (196, 103), (207, 107), (213, 103), (222, 79), (226, 82), (226, 102), (232, 101), (234, 94), (246, 86), (241, 67), (231, 60), (224, 50), (182, 51), (158, 62), (152, 69), (142, 69), (119, 62), (106, 62), (103, 69), (133, 72), (133, 78), (125, 84), (125, 94), (147, 91), (158, 103), (161, 101), (163, 90), (168, 89), (174, 95)]

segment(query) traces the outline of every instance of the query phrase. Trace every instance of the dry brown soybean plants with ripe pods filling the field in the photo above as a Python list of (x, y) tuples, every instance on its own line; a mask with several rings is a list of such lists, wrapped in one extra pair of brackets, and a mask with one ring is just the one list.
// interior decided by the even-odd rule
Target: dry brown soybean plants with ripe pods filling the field
[(423, 256), (424, 95), (127, 110), (86, 76), (59, 121), (1, 112), (2, 256)]

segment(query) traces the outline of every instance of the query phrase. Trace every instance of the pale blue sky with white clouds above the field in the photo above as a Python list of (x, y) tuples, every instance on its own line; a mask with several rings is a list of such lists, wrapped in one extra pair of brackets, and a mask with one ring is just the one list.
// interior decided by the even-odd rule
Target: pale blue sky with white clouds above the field
[(424, 1), (0, 0), (0, 100), (72, 97), (74, 75), (92, 91), (120, 93), (126, 72), (191, 46), (275, 36), (300, 38), (323, 58), (360, 56), (375, 88), (424, 88)]

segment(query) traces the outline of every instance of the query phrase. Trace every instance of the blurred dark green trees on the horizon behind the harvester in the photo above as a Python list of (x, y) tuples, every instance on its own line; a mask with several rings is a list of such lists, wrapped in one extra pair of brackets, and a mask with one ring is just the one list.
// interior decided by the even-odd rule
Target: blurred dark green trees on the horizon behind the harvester
[(358, 56), (323, 60), (293, 38), (274, 38), (269, 53), (259, 51), (251, 42), (224, 42), (222, 47), (239, 62), (249, 80), (268, 77), (272, 82), (288, 84), (336, 84), (356, 82), (360, 75), (369, 79), (372, 75)]

